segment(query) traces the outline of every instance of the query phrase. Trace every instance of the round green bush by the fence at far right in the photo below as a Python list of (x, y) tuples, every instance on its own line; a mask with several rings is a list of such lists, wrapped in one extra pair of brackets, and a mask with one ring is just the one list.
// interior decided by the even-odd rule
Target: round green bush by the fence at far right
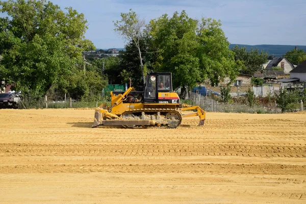
[(276, 103), (282, 109), (282, 113), (285, 111), (293, 111), (294, 105), (298, 103), (298, 100), (299, 96), (297, 91), (289, 91), (286, 88), (281, 88), (279, 94), (276, 94)]

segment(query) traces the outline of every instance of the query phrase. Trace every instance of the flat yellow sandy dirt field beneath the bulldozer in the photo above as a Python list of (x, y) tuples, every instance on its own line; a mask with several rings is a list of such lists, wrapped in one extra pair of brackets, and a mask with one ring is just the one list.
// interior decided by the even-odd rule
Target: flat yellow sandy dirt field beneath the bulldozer
[(0, 203), (306, 203), (306, 113), (91, 129), (94, 110), (0, 110)]

